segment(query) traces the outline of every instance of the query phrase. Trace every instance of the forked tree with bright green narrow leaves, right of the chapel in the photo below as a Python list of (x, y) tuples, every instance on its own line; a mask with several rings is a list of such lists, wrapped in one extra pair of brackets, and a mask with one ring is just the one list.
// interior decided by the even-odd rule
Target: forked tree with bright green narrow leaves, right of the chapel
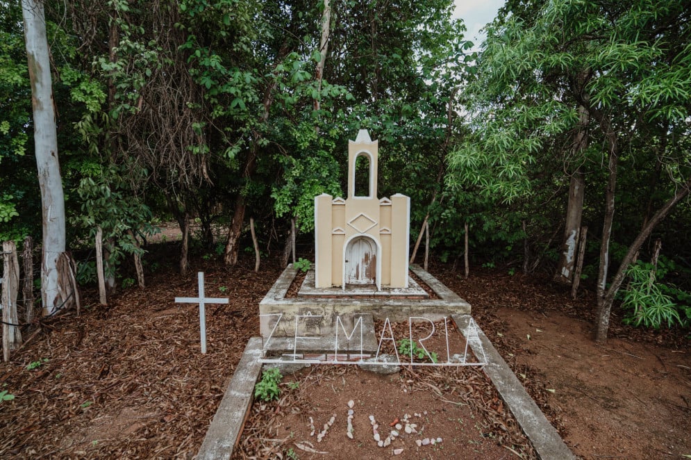
[[(691, 13), (672, 0), (536, 1), (535, 8), (540, 13), (529, 24), (508, 17), (490, 28), (469, 109), (483, 125), (479, 142), (459, 149), (453, 161), (468, 167), (458, 174), (472, 183), (515, 198), (530, 190), (528, 170), (543, 161), (544, 147), (578, 131), (583, 117), (576, 107), (583, 107), (581, 115), (594, 126), (590, 135), (597, 134), (592, 145), (604, 147), (582, 149), (576, 158), (602, 165), (606, 178), (594, 328), (602, 341), (633, 254), (691, 186)], [(671, 179), (666, 197), (642, 229), (628, 232), (634, 237), (626, 255), (613, 261), (617, 183), (622, 174), (635, 174), (637, 156), (660, 150), (663, 126), (677, 140), (654, 157)], [(618, 268), (610, 278), (613, 263)]]

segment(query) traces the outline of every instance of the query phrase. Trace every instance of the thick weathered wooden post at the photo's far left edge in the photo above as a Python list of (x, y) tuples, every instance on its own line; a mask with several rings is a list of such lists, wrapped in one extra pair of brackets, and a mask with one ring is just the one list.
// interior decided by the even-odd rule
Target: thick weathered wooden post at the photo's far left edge
[(14, 241), (2, 243), (2, 351), (3, 359), (10, 360), (10, 351), (22, 345), (22, 333), (17, 319), (17, 291), (19, 290), (19, 261)]

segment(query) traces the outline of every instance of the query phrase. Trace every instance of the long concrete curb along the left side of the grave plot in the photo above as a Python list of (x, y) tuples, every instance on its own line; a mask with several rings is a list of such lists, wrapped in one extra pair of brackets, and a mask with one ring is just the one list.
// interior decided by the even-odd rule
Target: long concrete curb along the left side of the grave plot
[(235, 368), (231, 383), (218, 406), (197, 454), (197, 460), (230, 459), (237, 443), (248, 409), (253, 400), (262, 364), (262, 338), (252, 337)]

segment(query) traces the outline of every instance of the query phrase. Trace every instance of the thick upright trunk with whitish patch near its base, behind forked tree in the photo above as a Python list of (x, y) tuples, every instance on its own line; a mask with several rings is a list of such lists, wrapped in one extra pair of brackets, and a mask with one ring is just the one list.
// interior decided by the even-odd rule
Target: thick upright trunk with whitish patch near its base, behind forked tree
[(583, 215), (583, 197), (585, 196), (585, 174), (579, 167), (571, 176), (569, 186), (569, 202), (566, 210), (566, 226), (564, 228), (564, 243), (557, 265), (554, 281), (569, 284), (574, 279), (574, 265), (576, 264), (576, 246), (578, 232), (581, 229)]

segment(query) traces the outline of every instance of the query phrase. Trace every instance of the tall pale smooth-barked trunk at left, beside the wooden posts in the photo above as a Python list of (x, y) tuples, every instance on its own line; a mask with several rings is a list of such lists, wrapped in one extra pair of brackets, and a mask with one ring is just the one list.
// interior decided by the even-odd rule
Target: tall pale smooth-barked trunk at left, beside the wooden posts
[(58, 297), (58, 256), (65, 251), (65, 197), (58, 162), (53, 87), (43, 2), (22, 0), (28, 74), (33, 102), (33, 129), (41, 188), (43, 256), (41, 297), (45, 313), (52, 313)]

